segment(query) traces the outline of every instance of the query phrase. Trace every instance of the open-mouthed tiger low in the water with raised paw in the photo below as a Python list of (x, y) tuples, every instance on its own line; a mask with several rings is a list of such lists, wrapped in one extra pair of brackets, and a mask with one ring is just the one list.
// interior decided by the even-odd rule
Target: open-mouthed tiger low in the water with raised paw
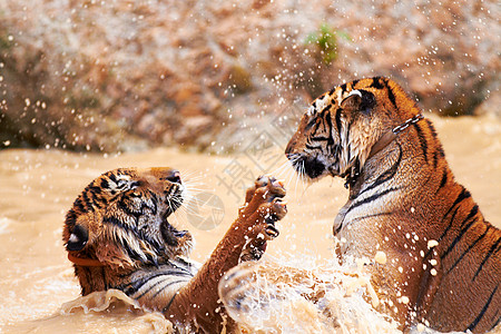
[(245, 194), (238, 217), (205, 264), (189, 259), (194, 239), (167, 218), (186, 197), (173, 168), (118, 168), (92, 180), (66, 215), (62, 239), (81, 294), (119, 289), (176, 328), (235, 331), (218, 302), (220, 277), (240, 262), (257, 261), (275, 223), (287, 213), (282, 181), (259, 177)]

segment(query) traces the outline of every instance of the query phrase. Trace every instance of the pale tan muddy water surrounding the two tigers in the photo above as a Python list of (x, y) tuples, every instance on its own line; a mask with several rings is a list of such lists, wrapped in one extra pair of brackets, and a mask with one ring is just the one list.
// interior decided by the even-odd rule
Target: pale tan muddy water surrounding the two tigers
[[(501, 122), (488, 118), (434, 119), (456, 178), (479, 203), (484, 216), (501, 227)], [(101, 173), (126, 166), (173, 166), (181, 170), (194, 196), (206, 205), (176, 213), (171, 220), (197, 240), (193, 258), (203, 262), (243, 203), (243, 185), (262, 173), (286, 180), (287, 217), (267, 257), (306, 267), (332, 257), (332, 222), (346, 200), (342, 180), (305, 186), (286, 168), (282, 148), (246, 155), (208, 156), (155, 149), (119, 156), (58, 150), (0, 151), (0, 332), (168, 332), (159, 314), (145, 313), (122, 296), (77, 299), (79, 287), (66, 258), (61, 227), (75, 197)], [(214, 196), (216, 195), (216, 196)], [(195, 215), (195, 213), (197, 215)], [(311, 305), (293, 308), (304, 315)], [(284, 308), (285, 310), (285, 308)], [(371, 313), (367, 311), (367, 314)], [(371, 327), (373, 320), (361, 315)], [(316, 328), (315, 317), (306, 317)], [(384, 321), (382, 321), (384, 324)], [(350, 324), (346, 325), (350, 330)], [(390, 328), (391, 326), (382, 326)], [(387, 330), (391, 331), (391, 330)]]

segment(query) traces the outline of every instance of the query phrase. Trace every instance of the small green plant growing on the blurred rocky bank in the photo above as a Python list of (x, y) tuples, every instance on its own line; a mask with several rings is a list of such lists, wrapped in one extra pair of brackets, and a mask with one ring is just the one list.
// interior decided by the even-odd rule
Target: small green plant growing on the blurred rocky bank
[(307, 45), (315, 45), (322, 55), (324, 63), (330, 65), (337, 59), (338, 38), (352, 41), (352, 38), (346, 32), (334, 29), (327, 23), (322, 23), (317, 31), (308, 35), (305, 42)]

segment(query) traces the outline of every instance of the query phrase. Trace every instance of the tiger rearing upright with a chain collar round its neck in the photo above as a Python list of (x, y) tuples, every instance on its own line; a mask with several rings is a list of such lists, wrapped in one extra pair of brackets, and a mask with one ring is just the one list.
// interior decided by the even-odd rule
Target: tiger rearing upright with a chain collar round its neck
[(285, 150), (297, 171), (345, 178), (333, 232), (371, 265), (380, 310), (409, 328), (483, 333), (501, 318), (501, 230), (459, 185), (435, 129), (386, 78), (354, 80), (314, 100)]

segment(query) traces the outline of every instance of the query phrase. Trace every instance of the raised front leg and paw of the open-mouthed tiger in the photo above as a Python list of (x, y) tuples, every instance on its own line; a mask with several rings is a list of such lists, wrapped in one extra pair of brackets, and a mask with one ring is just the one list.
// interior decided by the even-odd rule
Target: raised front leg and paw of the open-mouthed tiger
[(224, 324), (232, 330), (234, 323), (226, 316), (219, 302), (219, 279), (242, 261), (258, 259), (266, 243), (276, 236), (275, 223), (286, 213), (282, 202), (285, 189), (273, 177), (261, 177), (246, 193), (245, 205), (230, 225), (209, 259), (196, 276), (184, 286), (164, 311), (174, 322), (191, 323), (199, 332), (219, 333)]

